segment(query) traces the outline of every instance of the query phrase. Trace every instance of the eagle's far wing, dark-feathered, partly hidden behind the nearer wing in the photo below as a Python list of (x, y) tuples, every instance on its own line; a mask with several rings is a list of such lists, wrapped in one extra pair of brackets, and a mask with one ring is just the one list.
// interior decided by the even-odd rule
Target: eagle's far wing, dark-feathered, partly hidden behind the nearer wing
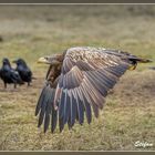
[(46, 132), (51, 121), (51, 132), (53, 133), (58, 122), (58, 111), (54, 110), (53, 102), (54, 102), (55, 89), (58, 85), (59, 76), (54, 81), (51, 81), (52, 74), (53, 74), (53, 69), (51, 65), (46, 73), (46, 83), (42, 89), (42, 92), (40, 94), (35, 107), (35, 115), (39, 114), (39, 123), (38, 123), (39, 127), (41, 126), (42, 123), (44, 123), (44, 132)]

